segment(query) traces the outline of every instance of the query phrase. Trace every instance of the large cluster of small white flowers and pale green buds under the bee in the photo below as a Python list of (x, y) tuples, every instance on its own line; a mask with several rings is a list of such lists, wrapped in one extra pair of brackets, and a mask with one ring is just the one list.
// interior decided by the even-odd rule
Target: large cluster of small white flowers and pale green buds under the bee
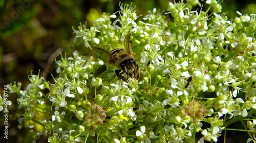
[(255, 14), (238, 12), (230, 20), (217, 1), (206, 1), (206, 11), (193, 11), (196, 5), (169, 3), (165, 12), (137, 16), (135, 7), (120, 4), (120, 11), (103, 13), (94, 26), (73, 28), (88, 51), (123, 48), (131, 31), (140, 78), (124, 82), (108, 55), (88, 59), (74, 51), (56, 61), (54, 83), (30, 75), (24, 91), (20, 83), (9, 85), (18, 95), (15, 117), (30, 128), (44, 125), (44, 132), (32, 132), (35, 139), (49, 135), (49, 142), (216, 142), (238, 119), (254, 131)]

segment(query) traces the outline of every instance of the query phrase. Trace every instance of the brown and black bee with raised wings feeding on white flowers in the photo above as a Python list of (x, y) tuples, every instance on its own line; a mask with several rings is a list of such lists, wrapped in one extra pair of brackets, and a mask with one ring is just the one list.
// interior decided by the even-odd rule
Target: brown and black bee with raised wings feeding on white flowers
[[(115, 70), (115, 73), (118, 78), (128, 81), (129, 77), (134, 77), (135, 79), (139, 79), (140, 77), (140, 68), (139, 65), (136, 64), (134, 60), (134, 56), (131, 53), (130, 49), (130, 38), (131, 38), (131, 32), (129, 31), (127, 35), (125, 36), (123, 46), (122, 48), (115, 48), (112, 51), (107, 51), (105, 49), (92, 46), (94, 48), (97, 48), (99, 50), (102, 50), (105, 53), (108, 53), (110, 56), (109, 63), (111, 65), (114, 65), (118, 67), (119, 69)], [(127, 78), (125, 78), (122, 74), (126, 73)]]

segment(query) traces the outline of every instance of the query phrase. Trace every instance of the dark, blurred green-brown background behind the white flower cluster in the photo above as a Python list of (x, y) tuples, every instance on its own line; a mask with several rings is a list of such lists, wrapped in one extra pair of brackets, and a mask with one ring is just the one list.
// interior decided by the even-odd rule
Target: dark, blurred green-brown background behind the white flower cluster
[[(168, 2), (173, 1), (0, 0), (1, 95), (4, 85), (13, 81), (22, 82), (22, 88), (25, 89), (29, 83), (28, 75), (31, 74), (31, 70), (33, 74), (40, 70), (40, 74), (44, 75), (47, 81), (52, 81), (51, 74), (57, 75), (54, 59), (60, 58), (60, 52), (62, 55), (67, 53), (67, 56), (71, 56), (72, 52), (77, 50), (79, 54), (86, 55), (88, 49), (85, 48), (82, 39), (74, 42), (72, 26), (77, 30), (79, 22), (84, 24), (88, 21), (87, 27), (90, 27), (93, 20), (99, 18), (102, 12), (110, 15), (118, 11), (119, 2), (129, 5), (132, 2), (133, 6), (137, 6), (137, 15), (145, 15), (153, 8), (165, 10)], [(237, 10), (242, 14), (255, 13), (256, 2), (222, 2), (222, 12), (229, 18), (239, 16)], [(1, 133), (2, 126), (1, 124)], [(15, 126), (13, 133), (9, 135), (15, 136), (13, 139), (17, 141), (26, 133), (16, 130)]]

